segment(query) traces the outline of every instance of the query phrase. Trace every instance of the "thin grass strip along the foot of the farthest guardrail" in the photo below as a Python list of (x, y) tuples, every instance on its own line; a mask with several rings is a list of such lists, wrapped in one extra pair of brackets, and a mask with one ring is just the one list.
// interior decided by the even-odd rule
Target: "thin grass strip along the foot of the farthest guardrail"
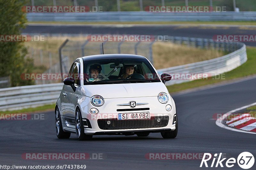
[(256, 25), (256, 21), (156, 21), (156, 22), (66, 22), (66, 21), (30, 21), (28, 24), (216, 24), (216, 25)]

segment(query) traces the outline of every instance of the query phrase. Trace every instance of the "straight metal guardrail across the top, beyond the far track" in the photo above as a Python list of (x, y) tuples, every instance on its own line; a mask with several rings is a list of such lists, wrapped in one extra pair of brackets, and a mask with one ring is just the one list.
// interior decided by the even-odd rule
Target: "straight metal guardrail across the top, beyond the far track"
[(28, 21), (256, 21), (256, 12), (84, 12), (84, 13), (28, 13)]

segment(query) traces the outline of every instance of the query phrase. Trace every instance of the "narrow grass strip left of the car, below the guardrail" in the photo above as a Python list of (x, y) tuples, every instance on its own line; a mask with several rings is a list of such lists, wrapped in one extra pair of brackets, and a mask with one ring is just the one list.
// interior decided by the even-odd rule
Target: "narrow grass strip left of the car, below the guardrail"
[(0, 111), (0, 114), (15, 114), (15, 113), (36, 113), (42, 111), (53, 111), (55, 109), (56, 104), (44, 105), (39, 107), (30, 107), (21, 110), (13, 110), (13, 111)]

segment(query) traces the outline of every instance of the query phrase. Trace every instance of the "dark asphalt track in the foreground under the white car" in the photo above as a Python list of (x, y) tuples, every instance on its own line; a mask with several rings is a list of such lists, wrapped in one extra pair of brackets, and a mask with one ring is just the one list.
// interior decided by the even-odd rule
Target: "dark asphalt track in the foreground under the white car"
[[(0, 164), (85, 164), (86, 169), (199, 169), (201, 160), (148, 160), (145, 154), (222, 152), (236, 159), (241, 152), (251, 152), (255, 157), (255, 135), (222, 129), (216, 126), (215, 120), (211, 120), (216, 113), (226, 113), (255, 102), (255, 84), (256, 77), (253, 77), (236, 83), (174, 95), (179, 119), (179, 133), (175, 139), (163, 139), (160, 133), (151, 133), (148, 137), (94, 136), (92, 141), (78, 141), (76, 135), (71, 134), (70, 139), (58, 139), (55, 135), (54, 112), (45, 113), (45, 120), (41, 121), (2, 120)], [(172, 94), (171, 91), (170, 93)], [(103, 153), (104, 159), (21, 158), (22, 153), (67, 152)], [(255, 166), (252, 169), (255, 169)], [(241, 169), (237, 164), (232, 169), (234, 168)]]

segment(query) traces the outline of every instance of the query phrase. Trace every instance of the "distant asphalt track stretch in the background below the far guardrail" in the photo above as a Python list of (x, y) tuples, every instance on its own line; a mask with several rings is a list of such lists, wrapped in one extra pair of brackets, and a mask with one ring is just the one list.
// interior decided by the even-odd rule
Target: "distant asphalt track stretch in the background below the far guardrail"
[[(183, 26), (183, 25), (37, 25), (30, 24), (22, 32), (38, 34), (132, 34), (169, 35), (212, 39), (214, 35), (255, 35), (255, 26)], [(245, 42), (256, 46), (256, 42)]]

